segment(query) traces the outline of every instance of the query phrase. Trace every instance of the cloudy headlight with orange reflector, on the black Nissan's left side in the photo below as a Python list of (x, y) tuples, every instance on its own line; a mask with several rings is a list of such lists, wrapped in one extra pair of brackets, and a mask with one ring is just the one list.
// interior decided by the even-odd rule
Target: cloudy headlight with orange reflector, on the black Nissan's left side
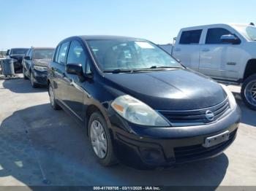
[(154, 109), (130, 95), (121, 95), (112, 102), (111, 106), (129, 122), (147, 126), (170, 126)]

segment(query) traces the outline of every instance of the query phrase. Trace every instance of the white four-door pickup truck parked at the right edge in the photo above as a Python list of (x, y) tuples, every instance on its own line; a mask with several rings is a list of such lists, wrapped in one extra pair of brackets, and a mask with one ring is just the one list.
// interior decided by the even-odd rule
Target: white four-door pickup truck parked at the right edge
[(182, 28), (173, 56), (218, 82), (241, 84), (241, 97), (256, 110), (256, 28), (215, 24)]

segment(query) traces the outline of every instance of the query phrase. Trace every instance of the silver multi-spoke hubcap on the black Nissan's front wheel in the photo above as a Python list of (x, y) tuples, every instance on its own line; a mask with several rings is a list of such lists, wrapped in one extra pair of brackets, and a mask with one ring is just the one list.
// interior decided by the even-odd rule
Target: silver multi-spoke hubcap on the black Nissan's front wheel
[(91, 145), (95, 154), (99, 158), (104, 158), (107, 154), (107, 139), (105, 130), (98, 120), (91, 122), (90, 128)]

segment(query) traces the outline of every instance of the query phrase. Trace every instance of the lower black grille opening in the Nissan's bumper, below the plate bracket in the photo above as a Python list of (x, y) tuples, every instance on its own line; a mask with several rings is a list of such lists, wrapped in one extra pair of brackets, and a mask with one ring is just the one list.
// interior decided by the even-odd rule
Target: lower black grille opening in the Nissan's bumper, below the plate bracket
[(177, 163), (183, 163), (188, 160), (197, 160), (202, 157), (211, 156), (221, 152), (228, 145), (232, 143), (232, 141), (236, 138), (236, 130), (233, 130), (230, 133), (229, 139), (220, 144), (217, 144), (213, 147), (203, 147), (201, 144), (188, 146), (188, 147), (176, 147), (174, 148), (174, 155)]

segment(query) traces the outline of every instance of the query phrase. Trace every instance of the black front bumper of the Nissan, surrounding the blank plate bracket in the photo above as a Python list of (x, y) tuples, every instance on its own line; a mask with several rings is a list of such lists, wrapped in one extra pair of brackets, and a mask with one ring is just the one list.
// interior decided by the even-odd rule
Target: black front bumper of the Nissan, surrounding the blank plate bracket
[[(221, 154), (236, 139), (240, 117), (238, 106), (217, 122), (178, 128), (136, 127), (121, 121), (121, 117), (118, 117), (118, 120), (113, 117), (115, 120), (112, 118), (111, 122), (115, 124), (112, 130), (116, 155), (122, 162), (136, 168), (141, 165), (168, 166), (214, 157)], [(202, 146), (207, 137), (226, 130), (230, 131), (227, 141), (213, 147)]]

